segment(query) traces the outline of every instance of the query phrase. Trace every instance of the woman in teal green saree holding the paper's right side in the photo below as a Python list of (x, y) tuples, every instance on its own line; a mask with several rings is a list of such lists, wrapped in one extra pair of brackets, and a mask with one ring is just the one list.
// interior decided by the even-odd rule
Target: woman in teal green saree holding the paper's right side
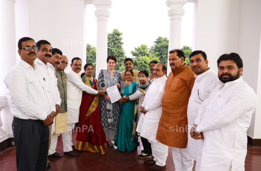
[[(126, 70), (126, 82), (121, 84), (122, 97), (129, 96), (138, 90), (139, 84), (132, 80), (133, 76), (134, 74), (131, 70)], [(138, 135), (135, 130), (136, 123), (134, 122), (134, 110), (135, 102), (133, 101), (122, 103), (120, 106), (120, 121), (114, 145), (117, 147), (117, 150), (122, 152), (131, 152), (138, 144)]]

